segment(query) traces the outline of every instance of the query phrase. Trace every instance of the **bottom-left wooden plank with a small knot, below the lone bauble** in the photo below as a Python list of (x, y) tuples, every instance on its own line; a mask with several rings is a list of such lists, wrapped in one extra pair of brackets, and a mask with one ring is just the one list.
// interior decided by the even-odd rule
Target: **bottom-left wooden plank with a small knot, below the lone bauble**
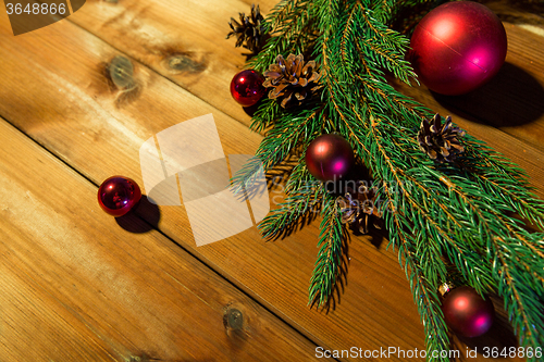
[[(95, 185), (3, 120), (0, 143), (0, 360), (316, 359), (313, 344), (160, 233), (119, 227)], [(238, 329), (224, 323), (233, 310)]]

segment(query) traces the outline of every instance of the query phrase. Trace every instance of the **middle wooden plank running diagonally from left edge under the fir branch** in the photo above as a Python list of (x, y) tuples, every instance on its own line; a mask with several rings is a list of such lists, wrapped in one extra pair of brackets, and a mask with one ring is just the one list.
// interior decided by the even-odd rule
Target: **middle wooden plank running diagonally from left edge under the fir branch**
[[(5, 22), (1, 23), (0, 34), (9, 32)], [(133, 98), (122, 97), (103, 77), (104, 64), (119, 52), (69, 22), (36, 36), (4, 36), (2, 45), (7, 51), (0, 55), (0, 114), (95, 184), (112, 174), (141, 182), (137, 161), (141, 143), (159, 130), (201, 114), (214, 114), (225, 153), (251, 153), (261, 139), (140, 63), (134, 62), (139, 91)], [(524, 145), (504, 137), (515, 147)], [(539, 150), (528, 150), (542, 157)], [(423, 329), (408, 283), (396, 254), (385, 250), (386, 241), (380, 242), (379, 235), (373, 240), (353, 239), (348, 286), (338, 308), (325, 314), (306, 307), (317, 254), (316, 225), (275, 242), (263, 242), (250, 228), (196, 248), (185, 209), (160, 211), (158, 227), (163, 233), (316, 344), (330, 349), (423, 348)], [(153, 220), (145, 210), (140, 214)], [(504, 328), (498, 330), (504, 333)], [(491, 339), (498, 346), (505, 340), (511, 339), (497, 335)]]

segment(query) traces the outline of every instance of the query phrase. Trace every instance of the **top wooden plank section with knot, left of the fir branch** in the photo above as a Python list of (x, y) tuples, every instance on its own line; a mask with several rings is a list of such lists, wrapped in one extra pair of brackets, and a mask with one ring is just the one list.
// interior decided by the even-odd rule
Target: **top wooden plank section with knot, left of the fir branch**
[[(246, 52), (225, 40), (228, 21), (248, 13), (250, 1), (87, 1), (71, 21), (148, 65), (210, 104), (243, 121), (250, 116), (228, 92)], [(263, 13), (276, 3), (260, 1)]]

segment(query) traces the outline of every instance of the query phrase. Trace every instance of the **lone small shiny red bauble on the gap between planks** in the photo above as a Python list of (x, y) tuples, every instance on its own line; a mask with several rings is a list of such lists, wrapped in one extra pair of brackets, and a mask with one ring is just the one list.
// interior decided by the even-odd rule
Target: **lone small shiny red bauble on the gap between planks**
[(125, 215), (140, 198), (141, 191), (138, 184), (128, 177), (110, 177), (98, 188), (100, 208), (115, 217)]

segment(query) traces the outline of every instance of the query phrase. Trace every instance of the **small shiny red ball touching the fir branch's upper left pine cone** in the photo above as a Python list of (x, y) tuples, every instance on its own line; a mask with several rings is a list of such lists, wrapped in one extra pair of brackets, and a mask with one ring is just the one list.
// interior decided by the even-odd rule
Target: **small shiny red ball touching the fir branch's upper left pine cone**
[(262, 86), (264, 77), (252, 70), (242, 71), (231, 82), (231, 95), (243, 107), (256, 104), (267, 92)]

